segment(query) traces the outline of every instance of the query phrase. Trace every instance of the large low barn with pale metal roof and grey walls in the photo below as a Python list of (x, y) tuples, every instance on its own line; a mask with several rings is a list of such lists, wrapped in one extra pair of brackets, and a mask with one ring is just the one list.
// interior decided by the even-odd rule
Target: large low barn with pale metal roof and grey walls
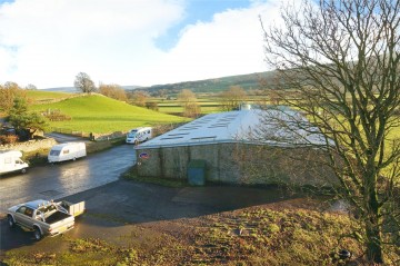
[(292, 125), (300, 125), (299, 119), (308, 122), (293, 110), (250, 109), (203, 116), (137, 146), (138, 175), (187, 179), (189, 165), (200, 160), (204, 162), (206, 181), (324, 185), (319, 171), (327, 169), (316, 170), (311, 160), (302, 160), (320, 158), (308, 144), (323, 145), (324, 138), (296, 126), (281, 127), (278, 121), (282, 114), (284, 120), (296, 120)]

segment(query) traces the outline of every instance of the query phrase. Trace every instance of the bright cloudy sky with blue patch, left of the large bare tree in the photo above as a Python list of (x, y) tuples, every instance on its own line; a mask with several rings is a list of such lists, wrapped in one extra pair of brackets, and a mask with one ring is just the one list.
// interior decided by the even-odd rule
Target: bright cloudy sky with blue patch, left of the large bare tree
[(152, 86), (267, 71), (281, 0), (0, 0), (0, 83)]

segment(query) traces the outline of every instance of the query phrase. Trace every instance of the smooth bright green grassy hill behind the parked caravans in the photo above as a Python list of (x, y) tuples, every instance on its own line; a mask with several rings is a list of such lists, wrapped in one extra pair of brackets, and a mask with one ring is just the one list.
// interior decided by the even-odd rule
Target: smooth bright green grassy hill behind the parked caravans
[(151, 111), (100, 95), (79, 96), (58, 102), (33, 105), (32, 110), (60, 110), (71, 120), (51, 121), (51, 127), (84, 132), (124, 131), (139, 126), (182, 122), (183, 118)]

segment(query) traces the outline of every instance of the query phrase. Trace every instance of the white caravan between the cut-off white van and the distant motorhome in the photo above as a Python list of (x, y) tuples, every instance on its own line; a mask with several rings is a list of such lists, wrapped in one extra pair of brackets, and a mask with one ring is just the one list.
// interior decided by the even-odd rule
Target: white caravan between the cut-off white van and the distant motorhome
[(84, 157), (86, 145), (84, 142), (68, 142), (54, 145), (48, 155), (49, 162), (57, 162), (63, 160), (76, 160)]

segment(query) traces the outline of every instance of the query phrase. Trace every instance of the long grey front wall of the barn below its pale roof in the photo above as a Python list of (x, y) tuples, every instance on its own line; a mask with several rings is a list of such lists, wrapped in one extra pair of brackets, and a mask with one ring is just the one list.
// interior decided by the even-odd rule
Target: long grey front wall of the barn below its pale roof
[[(146, 152), (147, 159), (139, 155)], [(206, 179), (224, 184), (292, 184), (329, 186), (333, 173), (322, 166), (323, 155), (312, 149), (242, 144), (214, 144), (137, 150), (138, 175), (188, 178), (190, 160), (206, 161)], [(317, 159), (321, 159), (319, 162)]]

